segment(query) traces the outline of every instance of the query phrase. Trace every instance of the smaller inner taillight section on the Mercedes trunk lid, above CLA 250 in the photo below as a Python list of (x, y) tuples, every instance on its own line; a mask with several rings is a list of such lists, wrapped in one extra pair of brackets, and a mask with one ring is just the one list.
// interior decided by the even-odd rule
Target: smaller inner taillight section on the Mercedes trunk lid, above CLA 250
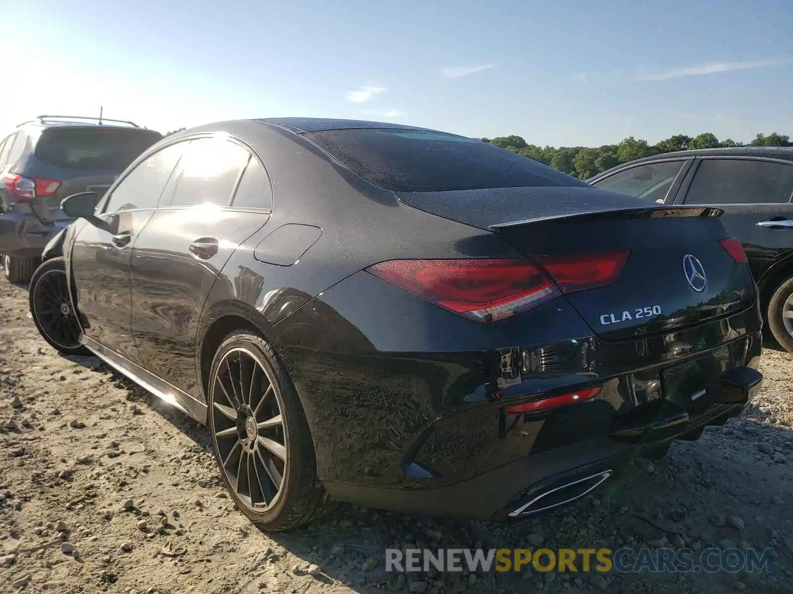
[(620, 252), (573, 253), (535, 258), (545, 268), (563, 293), (605, 287), (623, 272), (630, 255)]

